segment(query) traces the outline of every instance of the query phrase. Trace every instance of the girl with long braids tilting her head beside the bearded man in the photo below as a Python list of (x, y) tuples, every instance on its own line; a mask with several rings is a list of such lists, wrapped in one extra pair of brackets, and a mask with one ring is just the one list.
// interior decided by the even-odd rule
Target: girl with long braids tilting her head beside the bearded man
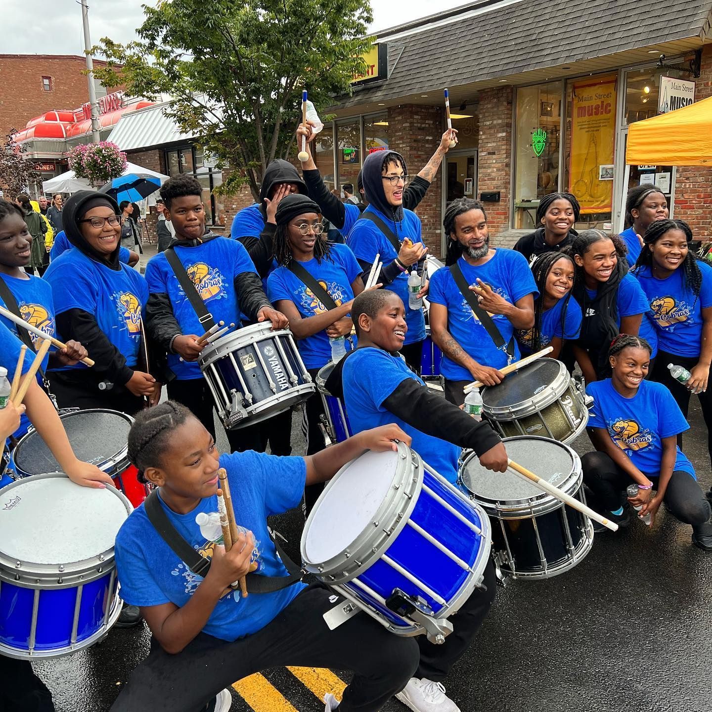
[(534, 325), (515, 332), (523, 355), (551, 346), (551, 358), (559, 358), (566, 340), (575, 339), (581, 328), (581, 308), (571, 298), (576, 264), (557, 252), (541, 255), (532, 273), (539, 296), (534, 300)]

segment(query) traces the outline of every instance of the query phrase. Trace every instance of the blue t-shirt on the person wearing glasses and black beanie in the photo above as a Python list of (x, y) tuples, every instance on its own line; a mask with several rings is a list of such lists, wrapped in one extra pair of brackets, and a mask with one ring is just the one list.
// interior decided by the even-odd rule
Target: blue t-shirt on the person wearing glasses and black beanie
[[(328, 291), (337, 306), (354, 298), (351, 283), (362, 272), (354, 253), (345, 245), (333, 244), (331, 258), (325, 257), (321, 263), (316, 258), (300, 265)], [(269, 300), (276, 303), (287, 299), (294, 303), (303, 318), (328, 311), (303, 281), (286, 267), (278, 267), (267, 279)], [(355, 338), (352, 338), (355, 342)], [(325, 331), (300, 339), (299, 352), (307, 368), (321, 368), (331, 359), (331, 346)]]

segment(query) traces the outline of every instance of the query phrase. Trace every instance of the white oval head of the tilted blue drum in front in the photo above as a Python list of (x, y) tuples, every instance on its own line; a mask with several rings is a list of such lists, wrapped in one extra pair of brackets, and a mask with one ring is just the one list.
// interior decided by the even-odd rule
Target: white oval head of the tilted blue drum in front
[(337, 473), (309, 515), (303, 539), (306, 560), (328, 561), (355, 542), (392, 487), (398, 457), (393, 451), (367, 452)]

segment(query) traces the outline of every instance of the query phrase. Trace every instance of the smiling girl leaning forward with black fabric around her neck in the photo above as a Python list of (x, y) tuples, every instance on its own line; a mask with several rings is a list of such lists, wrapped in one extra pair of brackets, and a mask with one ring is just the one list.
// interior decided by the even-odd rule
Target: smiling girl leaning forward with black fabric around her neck
[(567, 248), (576, 263), (573, 295), (582, 311), (574, 355), (587, 382), (608, 375), (607, 345), (619, 334), (654, 337), (644, 315), (648, 302), (628, 273), (625, 245), (617, 235), (584, 230)]

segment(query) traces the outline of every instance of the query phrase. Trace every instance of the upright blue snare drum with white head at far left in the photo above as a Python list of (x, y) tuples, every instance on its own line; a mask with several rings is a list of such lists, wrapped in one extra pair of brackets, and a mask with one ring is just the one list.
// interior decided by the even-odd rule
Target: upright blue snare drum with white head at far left
[(51, 658), (106, 634), (121, 611), (114, 540), (131, 511), (114, 488), (61, 473), (0, 491), (0, 654)]

